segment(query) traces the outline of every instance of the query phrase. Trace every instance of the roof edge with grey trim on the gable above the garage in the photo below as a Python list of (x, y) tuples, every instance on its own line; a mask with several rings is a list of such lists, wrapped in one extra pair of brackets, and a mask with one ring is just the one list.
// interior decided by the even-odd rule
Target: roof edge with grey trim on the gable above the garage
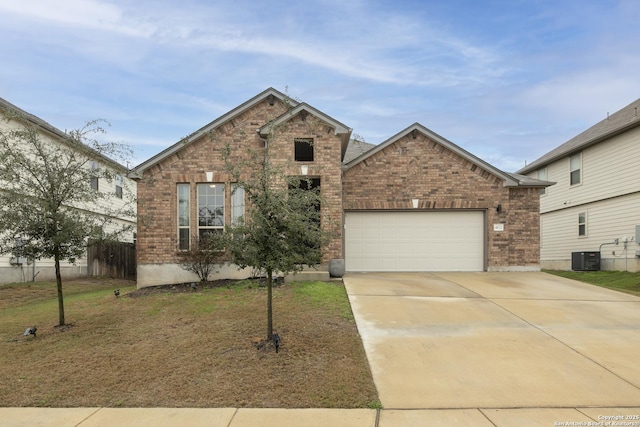
[(498, 178), (501, 178), (504, 181), (504, 186), (505, 187), (548, 187), (548, 186), (554, 184), (552, 182), (541, 181), (541, 180), (529, 178), (529, 177), (526, 177), (526, 176), (523, 176), (523, 175), (503, 172), (500, 169), (497, 169), (494, 166), (491, 166), (489, 163), (485, 162), (484, 160), (481, 160), (480, 158), (474, 156), (473, 154), (469, 153), (468, 151), (460, 148), (459, 146), (457, 146), (453, 142), (443, 138), (442, 136), (438, 135), (437, 133), (431, 131), (430, 129), (427, 129), (426, 127), (422, 126), (420, 123), (412, 124), (408, 128), (402, 130), (401, 132), (397, 133), (396, 135), (392, 136), (391, 138), (387, 139), (386, 141), (380, 143), (376, 147), (374, 147), (374, 148), (362, 153), (358, 157), (356, 157), (353, 160), (349, 161), (348, 163), (346, 163), (344, 165), (344, 170), (348, 170), (348, 169), (354, 167), (355, 165), (357, 165), (358, 163), (363, 162), (364, 160), (368, 159), (369, 157), (374, 156), (379, 151), (384, 150), (389, 145), (391, 145), (394, 142), (404, 138), (405, 136), (409, 135), (410, 133), (412, 133), (414, 131), (415, 132), (420, 132), (423, 135), (426, 135), (429, 139), (431, 139), (431, 140), (437, 142), (438, 144), (444, 146), (445, 148), (453, 151), (454, 153), (456, 153), (460, 157), (466, 159), (470, 163), (472, 163), (474, 165), (477, 165), (478, 167), (480, 167), (480, 168), (486, 170), (487, 172), (497, 176)]

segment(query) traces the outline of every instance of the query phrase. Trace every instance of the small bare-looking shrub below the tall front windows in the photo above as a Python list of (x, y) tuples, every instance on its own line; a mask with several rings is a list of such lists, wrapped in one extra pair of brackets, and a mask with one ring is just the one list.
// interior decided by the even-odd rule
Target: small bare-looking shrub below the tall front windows
[(190, 249), (179, 255), (180, 267), (194, 273), (201, 282), (206, 282), (225, 256), (226, 240), (224, 233), (217, 232), (209, 233), (204, 239), (194, 236)]

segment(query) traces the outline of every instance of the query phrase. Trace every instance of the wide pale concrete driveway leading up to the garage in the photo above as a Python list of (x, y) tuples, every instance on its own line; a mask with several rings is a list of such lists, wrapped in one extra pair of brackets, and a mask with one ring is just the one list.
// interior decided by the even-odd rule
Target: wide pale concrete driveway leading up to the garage
[(640, 298), (542, 272), (352, 273), (344, 283), (380, 425), (607, 425), (613, 415), (640, 425)]

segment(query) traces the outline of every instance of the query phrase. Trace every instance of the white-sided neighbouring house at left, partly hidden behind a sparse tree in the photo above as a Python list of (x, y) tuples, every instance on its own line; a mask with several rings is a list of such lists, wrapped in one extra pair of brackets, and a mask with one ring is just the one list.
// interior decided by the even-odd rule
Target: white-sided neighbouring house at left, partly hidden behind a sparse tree
[[(21, 119), (8, 117), (4, 114), (11, 111), (19, 114)], [(18, 108), (12, 103), (0, 98), (0, 130), (9, 131), (11, 129), (20, 129), (24, 126), (36, 126), (40, 137), (51, 144), (64, 144), (67, 134), (55, 128), (44, 120), (29, 114)], [(20, 147), (16, 146), (19, 150)], [(90, 183), (96, 191), (113, 192), (115, 195), (115, 204), (122, 204), (129, 200), (135, 201), (136, 183), (127, 177), (127, 169), (114, 160), (96, 153), (97, 161), (92, 161), (91, 166), (95, 168), (108, 168), (113, 171), (114, 179), (108, 181), (103, 178), (95, 177)], [(2, 191), (2, 183), (0, 183), (0, 191)], [(94, 206), (91, 208), (93, 212), (104, 213), (104, 208)], [(132, 225), (133, 230), (124, 236), (123, 241), (133, 242), (135, 237), (136, 218), (120, 217), (115, 218), (116, 222)], [(111, 231), (111, 230), (109, 230)], [(86, 276), (88, 274), (87, 259), (83, 257), (76, 260), (75, 263), (62, 263), (62, 275), (65, 278)], [(53, 259), (30, 260), (15, 257), (12, 255), (0, 255), (0, 283), (12, 282), (28, 282), (34, 278), (37, 280), (55, 279)]]

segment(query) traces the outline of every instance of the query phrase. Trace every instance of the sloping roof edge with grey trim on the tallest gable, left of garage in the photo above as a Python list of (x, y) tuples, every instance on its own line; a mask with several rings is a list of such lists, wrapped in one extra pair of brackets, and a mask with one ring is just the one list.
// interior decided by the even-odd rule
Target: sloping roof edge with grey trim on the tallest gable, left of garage
[(261, 103), (265, 99), (269, 99), (270, 97), (272, 97), (271, 99), (277, 98), (280, 101), (285, 101), (286, 100), (286, 102), (288, 102), (289, 105), (291, 105), (293, 107), (298, 105), (297, 101), (289, 98), (288, 96), (286, 96), (282, 92), (279, 92), (276, 89), (270, 87), (269, 89), (267, 89), (267, 90), (259, 93), (258, 95), (254, 96), (250, 100), (248, 100), (248, 101), (244, 102), (243, 104), (237, 106), (233, 110), (231, 110), (231, 111), (223, 114), (222, 116), (218, 117), (217, 119), (215, 119), (211, 123), (203, 126), (202, 128), (198, 129), (197, 131), (193, 132), (192, 134), (190, 134), (186, 138), (181, 139), (180, 141), (176, 142), (172, 146), (166, 148), (165, 150), (163, 150), (160, 153), (156, 154), (155, 156), (151, 157), (149, 160), (146, 160), (143, 163), (139, 164), (138, 166), (136, 166), (135, 168), (132, 169), (132, 171), (129, 174), (129, 176), (131, 178), (141, 178), (142, 174), (144, 173), (145, 170), (147, 170), (150, 167), (156, 165), (157, 163), (161, 162), (162, 160), (166, 159), (167, 157), (170, 157), (171, 155), (175, 154), (177, 151), (179, 151), (182, 148), (184, 148), (186, 145), (191, 144), (193, 141), (199, 139), (200, 137), (202, 137), (203, 135), (205, 135), (208, 132), (212, 131), (213, 129), (219, 127), (220, 125), (223, 125), (224, 123), (226, 123), (229, 120), (233, 119), (235, 116), (244, 113), (248, 109), (252, 108), (253, 106), (255, 106), (255, 105), (259, 104), (259, 103)]

